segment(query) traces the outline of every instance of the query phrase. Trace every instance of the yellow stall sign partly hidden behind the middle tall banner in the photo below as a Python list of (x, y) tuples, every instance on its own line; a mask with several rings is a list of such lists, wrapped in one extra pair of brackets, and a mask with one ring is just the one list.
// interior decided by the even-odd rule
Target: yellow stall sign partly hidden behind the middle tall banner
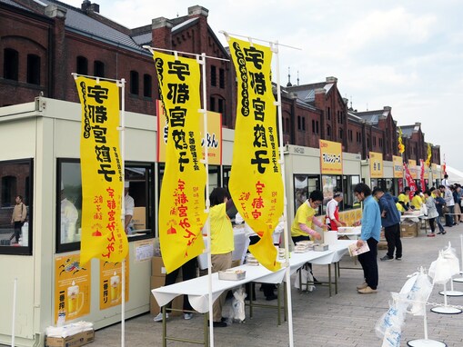
[[(166, 144), (168, 124), (166, 113), (160, 100), (156, 100), (157, 114), (157, 162), (166, 163)], [(202, 115), (199, 119), (199, 130), (201, 134), (202, 158), (205, 154), (204, 122)], [(222, 164), (222, 114), (207, 111), (207, 156), (209, 164)]]

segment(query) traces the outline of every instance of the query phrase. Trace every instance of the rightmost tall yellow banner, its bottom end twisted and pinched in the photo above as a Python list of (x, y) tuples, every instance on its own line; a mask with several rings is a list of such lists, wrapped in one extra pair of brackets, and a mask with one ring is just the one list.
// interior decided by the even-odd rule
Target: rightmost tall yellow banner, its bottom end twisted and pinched
[(238, 100), (229, 189), (238, 212), (260, 236), (249, 250), (268, 270), (277, 271), (272, 233), (283, 213), (283, 181), (278, 151), (277, 113), (272, 93), (272, 52), (263, 45), (230, 38), (237, 70)]

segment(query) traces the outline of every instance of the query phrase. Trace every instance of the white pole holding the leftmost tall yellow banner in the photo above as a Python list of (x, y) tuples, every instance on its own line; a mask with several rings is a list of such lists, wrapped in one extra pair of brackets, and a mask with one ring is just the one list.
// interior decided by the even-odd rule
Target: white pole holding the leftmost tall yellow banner
[[(125, 203), (125, 188), (126, 188), (126, 79), (122, 78), (118, 85), (121, 87), (121, 117), (120, 122), (120, 152), (121, 152), (121, 167), (122, 167), (122, 196), (121, 196), (121, 223), (126, 233), (126, 203)], [(121, 347), (124, 347), (126, 342), (126, 258), (122, 260), (122, 293), (121, 293)]]

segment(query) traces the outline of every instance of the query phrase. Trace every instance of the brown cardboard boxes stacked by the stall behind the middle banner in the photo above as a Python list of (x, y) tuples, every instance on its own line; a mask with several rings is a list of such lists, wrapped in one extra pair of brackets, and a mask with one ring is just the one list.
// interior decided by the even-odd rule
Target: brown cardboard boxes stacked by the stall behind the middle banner
[[(182, 270), (176, 276), (176, 282), (182, 281)], [(166, 268), (164, 267), (164, 263), (162, 257), (153, 257), (151, 260), (151, 288), (159, 288), (162, 287), (166, 283)], [(151, 314), (157, 314), (161, 312), (159, 305), (156, 302), (155, 297), (152, 293), (149, 296), (149, 308)], [(172, 302), (172, 309), (173, 310), (180, 310), (180, 311), (173, 311), (169, 312), (170, 315), (176, 316), (182, 314), (181, 310), (183, 308), (183, 295), (177, 296), (174, 301)]]

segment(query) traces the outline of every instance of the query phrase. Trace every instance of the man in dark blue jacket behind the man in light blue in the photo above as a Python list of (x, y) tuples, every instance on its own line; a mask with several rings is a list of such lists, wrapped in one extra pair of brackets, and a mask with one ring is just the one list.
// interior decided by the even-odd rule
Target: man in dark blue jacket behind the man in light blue
[(402, 241), (400, 241), (400, 213), (394, 198), (390, 193), (384, 193), (382, 188), (373, 189), (373, 196), (377, 198), (379, 203), (379, 211), (381, 213), (381, 224), (384, 227), (384, 235), (388, 242), (388, 253), (381, 261), (393, 261), (394, 251), (396, 251), (396, 259), (402, 259)]

